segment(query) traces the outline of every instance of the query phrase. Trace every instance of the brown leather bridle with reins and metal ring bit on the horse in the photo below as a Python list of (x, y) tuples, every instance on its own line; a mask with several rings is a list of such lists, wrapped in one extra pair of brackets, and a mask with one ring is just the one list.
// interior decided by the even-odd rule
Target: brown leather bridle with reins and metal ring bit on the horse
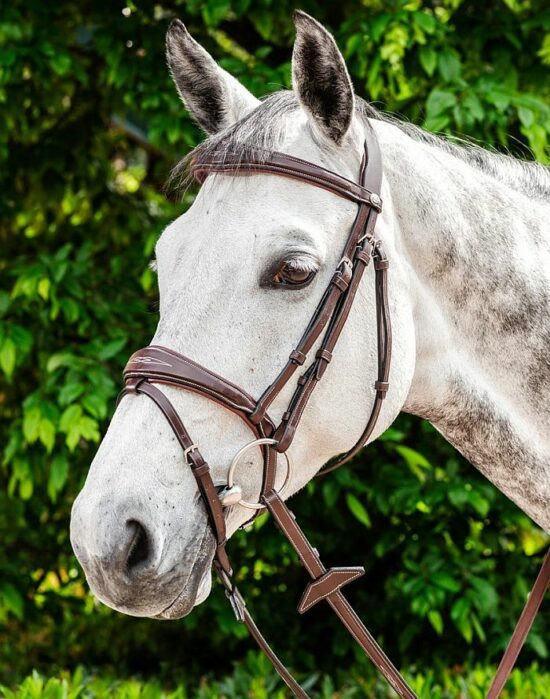
[[(256, 173), (277, 174), (321, 187), (339, 197), (355, 202), (357, 215), (342, 251), (341, 261), (298, 345), (290, 352), (287, 363), (259, 400), (255, 400), (239, 386), (197, 364), (192, 359), (166, 347), (154, 345), (137, 351), (128, 361), (124, 369), (126, 386), (120, 398), (128, 394), (149, 396), (170, 424), (202, 495), (216, 539), (214, 568), (220, 576), (235, 616), (238, 621), (246, 624), (262, 651), (294, 694), (301, 699), (308, 699), (306, 692), (294, 680), (261, 635), (250, 616), (244, 599), (232, 581), (233, 571), (226, 551), (224, 507), (240, 503), (256, 509), (269, 510), (312, 578), (299, 602), (298, 611), (304, 613), (317, 602), (326, 600), (397, 694), (403, 699), (415, 699), (415, 693), (393, 666), (342, 593), (341, 588), (363, 575), (364, 569), (344, 567), (327, 570), (321, 562), (318, 551), (311, 546), (297, 524), (296, 518), (283, 501), (281, 491), (284, 490), (284, 486), (281, 491), (277, 491), (275, 487), (278, 454), (284, 454), (288, 459), (287, 450), (292, 444), (304, 409), (330, 363), (336, 343), (351, 310), (357, 288), (371, 259), (375, 272), (378, 344), (378, 376), (374, 383), (374, 403), (366, 427), (356, 445), (335, 463), (322, 469), (320, 473), (327, 473), (341, 466), (362, 449), (373, 433), (382, 401), (389, 388), (391, 360), (391, 324), (387, 295), (389, 262), (380, 240), (375, 237), (376, 219), (382, 208), (380, 198), (382, 163), (378, 142), (372, 130), (369, 129), (366, 133), (358, 182), (353, 182), (318, 165), (284, 153), (272, 153), (268, 158), (250, 157), (243, 160), (231, 153), (224, 152), (223, 157), (220, 156), (219, 159), (216, 157), (209, 160), (203, 159), (193, 164), (193, 174), (201, 184), (210, 173), (225, 173), (233, 176), (249, 176)], [(296, 381), (288, 408), (283, 413), (279, 424), (276, 425), (267, 411), (281, 390), (291, 380), (298, 367), (305, 364), (317, 342), (319, 343), (318, 349), (307, 369)], [(235, 457), (228, 475), (228, 483), (221, 491), (214, 484), (208, 464), (189, 436), (177, 411), (158, 388), (158, 384), (176, 386), (209, 398), (234, 412), (250, 428), (255, 439), (245, 445)], [(233, 483), (233, 472), (240, 457), (252, 447), (261, 448), (263, 453), (262, 484), (258, 503), (255, 504), (245, 503), (241, 498), (240, 489)], [(287, 460), (285, 484), (290, 475), (289, 471), (290, 461)], [(550, 554), (547, 554), (543, 568), (493, 680), (487, 699), (496, 699), (499, 696), (533, 623), (549, 582)]]

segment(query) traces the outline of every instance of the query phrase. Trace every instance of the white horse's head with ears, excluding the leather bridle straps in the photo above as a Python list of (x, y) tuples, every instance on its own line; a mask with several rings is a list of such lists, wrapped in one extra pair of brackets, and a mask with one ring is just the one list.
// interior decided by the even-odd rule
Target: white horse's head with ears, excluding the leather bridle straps
[[(245, 158), (279, 151), (357, 180), (365, 130), (387, 126), (370, 123), (332, 36), (304, 13), (296, 14), (296, 27), (293, 89), (259, 101), (181, 22), (171, 25), (171, 74), (186, 108), (209, 134), (177, 176), (185, 178), (190, 164), (212, 154)], [(415, 361), (412, 301), (386, 182), (381, 194), (376, 230), (392, 259), (389, 306), (398, 342), (392, 390), (371, 439), (404, 405)], [(152, 344), (184, 354), (258, 398), (321, 301), (356, 215), (354, 202), (304, 182), (275, 174), (211, 174), (157, 242), (160, 318)], [(296, 468), (285, 497), (353, 446), (364, 429), (377, 373), (373, 283), (369, 267), (290, 447)], [(275, 421), (295, 385), (290, 381), (270, 406)], [(235, 453), (251, 440), (247, 425), (204, 395), (171, 386), (162, 391), (199, 444), (214, 483), (224, 483)], [(261, 450), (249, 450), (238, 471), (243, 498), (257, 501), (261, 481)], [(228, 535), (250, 518), (238, 503), (225, 512)], [(177, 618), (208, 596), (215, 540), (204, 501), (169, 425), (145, 396), (126, 396), (117, 407), (75, 501), (71, 539), (95, 595), (122, 612)]]

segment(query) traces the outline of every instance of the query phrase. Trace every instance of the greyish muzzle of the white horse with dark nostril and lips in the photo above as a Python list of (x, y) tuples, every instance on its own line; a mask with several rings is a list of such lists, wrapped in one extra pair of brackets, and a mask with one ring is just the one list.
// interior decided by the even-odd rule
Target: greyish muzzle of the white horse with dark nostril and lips
[(124, 614), (185, 616), (210, 592), (212, 532), (204, 521), (202, 532), (188, 533), (185, 546), (171, 530), (164, 532), (149, 519), (144, 508), (136, 509), (140, 516), (121, 516), (112, 503), (102, 500), (90, 508), (77, 498), (71, 542), (86, 580), (97, 599)]

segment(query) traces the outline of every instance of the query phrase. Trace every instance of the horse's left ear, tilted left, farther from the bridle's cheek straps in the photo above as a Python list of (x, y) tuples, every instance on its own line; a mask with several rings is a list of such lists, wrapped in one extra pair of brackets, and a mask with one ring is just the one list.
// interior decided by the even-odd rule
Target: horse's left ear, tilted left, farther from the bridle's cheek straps
[(178, 93), (208, 134), (230, 126), (260, 101), (198, 44), (175, 19), (166, 34), (166, 57)]

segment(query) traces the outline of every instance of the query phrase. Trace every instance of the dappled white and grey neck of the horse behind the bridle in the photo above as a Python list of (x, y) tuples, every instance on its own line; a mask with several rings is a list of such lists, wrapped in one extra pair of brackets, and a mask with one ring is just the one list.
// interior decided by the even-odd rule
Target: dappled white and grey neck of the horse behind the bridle
[(377, 132), (413, 297), (404, 410), (550, 531), (550, 202), (510, 186), (514, 161), (489, 175), (395, 126)]

